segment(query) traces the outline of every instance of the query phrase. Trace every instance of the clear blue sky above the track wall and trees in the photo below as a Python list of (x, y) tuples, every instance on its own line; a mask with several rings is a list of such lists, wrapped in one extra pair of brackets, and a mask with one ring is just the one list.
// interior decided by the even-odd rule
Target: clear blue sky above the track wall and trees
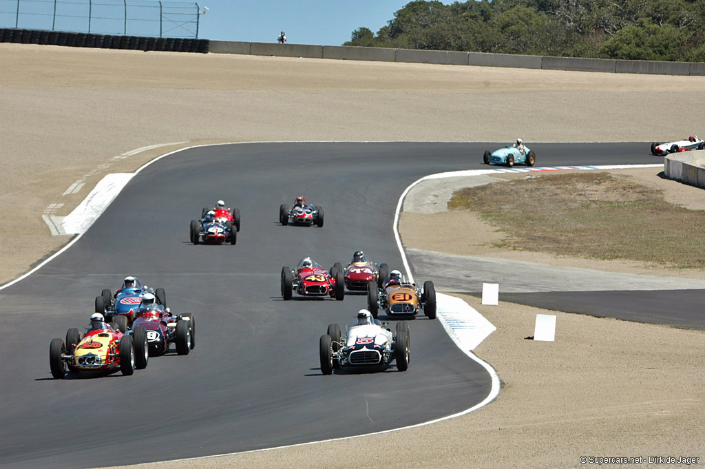
[[(373, 32), (410, 0), (199, 0), (198, 37), (221, 41), (340, 45), (353, 30)], [(65, 30), (101, 34), (193, 37), (196, 4), (152, 0), (0, 0), (0, 28)], [(448, 4), (450, 2), (444, 1)], [(125, 22), (125, 7), (128, 21)], [(90, 25), (88, 16), (91, 16)]]

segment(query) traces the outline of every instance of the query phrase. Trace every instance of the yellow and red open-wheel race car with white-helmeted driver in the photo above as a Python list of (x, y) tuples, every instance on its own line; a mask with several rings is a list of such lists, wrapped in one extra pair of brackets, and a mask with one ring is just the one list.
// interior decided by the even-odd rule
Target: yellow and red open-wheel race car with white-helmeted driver
[(63, 378), (67, 372), (84, 376), (109, 374), (118, 367), (122, 374), (129, 375), (135, 369), (146, 368), (148, 361), (145, 328), (135, 327), (123, 334), (116, 323), (104, 322), (99, 312), (91, 316), (85, 335), (72, 328), (66, 332), (66, 342), (51, 339), (49, 344), (49, 367), (55, 379)]

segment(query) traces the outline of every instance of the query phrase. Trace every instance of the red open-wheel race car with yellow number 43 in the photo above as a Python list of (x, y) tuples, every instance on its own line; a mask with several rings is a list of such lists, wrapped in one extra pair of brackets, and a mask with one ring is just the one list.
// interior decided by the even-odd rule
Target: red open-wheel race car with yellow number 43
[[(331, 267), (331, 272), (333, 267)], [(321, 267), (310, 257), (304, 257), (295, 270), (289, 267), (281, 268), (281, 296), (290, 300), (292, 292), (302, 296), (331, 296), (336, 300), (345, 297), (345, 280), (343, 272), (338, 270), (335, 276)]]

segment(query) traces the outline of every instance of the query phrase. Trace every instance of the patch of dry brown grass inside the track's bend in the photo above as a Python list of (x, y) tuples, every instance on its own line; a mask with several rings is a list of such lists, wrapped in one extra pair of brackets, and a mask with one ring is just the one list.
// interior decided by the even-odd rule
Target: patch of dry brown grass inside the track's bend
[(630, 176), (558, 173), (458, 190), (449, 209), (470, 209), (506, 233), (498, 247), (705, 267), (705, 211), (670, 204)]

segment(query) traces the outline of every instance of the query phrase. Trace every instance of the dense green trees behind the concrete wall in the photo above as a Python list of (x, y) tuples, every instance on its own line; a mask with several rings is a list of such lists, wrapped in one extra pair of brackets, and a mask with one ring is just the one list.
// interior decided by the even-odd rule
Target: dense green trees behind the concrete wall
[(346, 46), (705, 61), (705, 0), (415, 0)]

